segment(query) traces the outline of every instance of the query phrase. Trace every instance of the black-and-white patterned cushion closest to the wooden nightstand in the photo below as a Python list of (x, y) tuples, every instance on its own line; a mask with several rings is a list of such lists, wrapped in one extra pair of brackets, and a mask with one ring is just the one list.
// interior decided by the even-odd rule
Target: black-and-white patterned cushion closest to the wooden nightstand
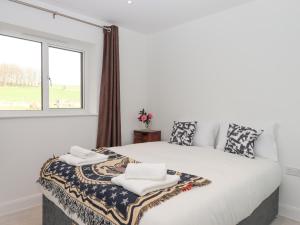
[(196, 133), (197, 122), (176, 122), (174, 121), (171, 133), (171, 144), (191, 146)]

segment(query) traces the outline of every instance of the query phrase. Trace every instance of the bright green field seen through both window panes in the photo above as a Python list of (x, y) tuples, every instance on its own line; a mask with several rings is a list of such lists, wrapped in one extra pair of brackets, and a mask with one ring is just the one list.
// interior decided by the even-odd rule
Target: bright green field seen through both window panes
[[(40, 87), (0, 86), (0, 110), (40, 110)], [(78, 86), (49, 87), (50, 108), (80, 108), (81, 92)]]

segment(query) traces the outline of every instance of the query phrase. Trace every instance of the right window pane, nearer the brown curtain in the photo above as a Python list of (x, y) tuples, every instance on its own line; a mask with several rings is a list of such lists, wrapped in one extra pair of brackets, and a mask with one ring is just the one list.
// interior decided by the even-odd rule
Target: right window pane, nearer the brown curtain
[(82, 53), (49, 48), (49, 108), (82, 108)]

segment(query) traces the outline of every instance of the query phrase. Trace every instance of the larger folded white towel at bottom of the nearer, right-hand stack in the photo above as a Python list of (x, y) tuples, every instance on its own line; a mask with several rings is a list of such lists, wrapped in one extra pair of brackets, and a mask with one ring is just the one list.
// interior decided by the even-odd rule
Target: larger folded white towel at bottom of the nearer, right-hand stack
[(125, 175), (121, 174), (112, 178), (111, 182), (118, 186), (122, 186), (126, 190), (131, 191), (139, 196), (143, 196), (153, 191), (172, 187), (173, 185), (176, 185), (179, 180), (180, 177), (177, 175), (167, 175), (166, 179), (163, 181), (153, 181), (126, 179)]

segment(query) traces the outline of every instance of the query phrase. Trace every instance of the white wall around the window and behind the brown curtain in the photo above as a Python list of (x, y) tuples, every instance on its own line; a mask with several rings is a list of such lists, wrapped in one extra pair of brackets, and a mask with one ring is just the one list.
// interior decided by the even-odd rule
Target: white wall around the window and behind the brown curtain
[[(72, 12), (53, 8), (69, 15)], [(89, 113), (80, 117), (0, 118), (0, 215), (40, 203), (35, 183), (43, 162), (53, 153), (63, 153), (71, 145), (95, 147), (97, 110), (102, 64), (102, 31), (81, 23), (39, 12), (17, 4), (0, 2), (0, 33), (17, 29), (19, 33), (82, 42), (88, 45), (86, 100)], [(93, 21), (103, 24), (101, 21)], [(120, 28), (121, 111), (123, 143), (132, 142), (132, 132), (139, 124), (136, 114), (147, 104), (146, 80), (147, 38)], [(1, 97), (1, 96), (0, 96)]]

